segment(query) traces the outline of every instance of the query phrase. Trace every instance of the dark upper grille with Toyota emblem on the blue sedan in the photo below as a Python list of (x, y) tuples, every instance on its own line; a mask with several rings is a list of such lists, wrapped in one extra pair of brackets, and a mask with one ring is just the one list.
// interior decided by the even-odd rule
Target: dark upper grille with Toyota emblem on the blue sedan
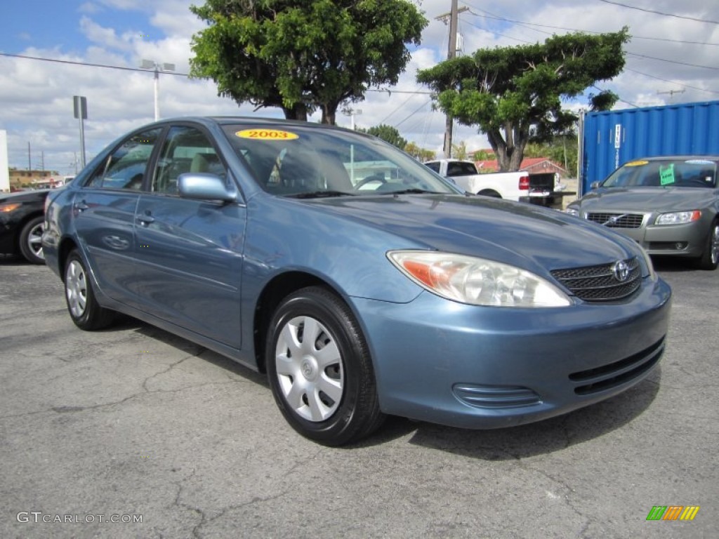
[(629, 273), (626, 280), (615, 276), (617, 262), (600, 266), (573, 267), (554, 270), (551, 275), (564, 285), (569, 292), (585, 301), (620, 300), (632, 295), (641, 284), (641, 269), (638, 259), (624, 260)]

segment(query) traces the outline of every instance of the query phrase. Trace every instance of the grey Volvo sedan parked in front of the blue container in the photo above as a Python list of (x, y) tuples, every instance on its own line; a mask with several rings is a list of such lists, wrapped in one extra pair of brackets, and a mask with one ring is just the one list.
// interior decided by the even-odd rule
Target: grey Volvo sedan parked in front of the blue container
[(567, 211), (636, 240), (649, 254), (719, 265), (718, 156), (633, 160)]

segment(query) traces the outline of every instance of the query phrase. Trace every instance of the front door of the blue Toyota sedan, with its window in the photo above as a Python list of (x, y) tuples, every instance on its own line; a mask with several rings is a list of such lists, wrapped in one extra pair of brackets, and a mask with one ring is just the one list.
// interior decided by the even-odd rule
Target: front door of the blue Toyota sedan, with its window
[(178, 176), (205, 172), (232, 181), (201, 127), (170, 128), (135, 213), (143, 308), (239, 349), (240, 277), (247, 211), (241, 203), (180, 198)]

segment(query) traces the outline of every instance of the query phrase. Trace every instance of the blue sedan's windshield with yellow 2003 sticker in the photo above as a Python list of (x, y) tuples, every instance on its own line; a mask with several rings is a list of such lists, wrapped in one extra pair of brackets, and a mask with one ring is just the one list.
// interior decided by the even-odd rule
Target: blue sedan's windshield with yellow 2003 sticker
[(268, 193), (299, 198), (459, 193), (404, 152), (363, 134), (296, 124), (223, 129)]

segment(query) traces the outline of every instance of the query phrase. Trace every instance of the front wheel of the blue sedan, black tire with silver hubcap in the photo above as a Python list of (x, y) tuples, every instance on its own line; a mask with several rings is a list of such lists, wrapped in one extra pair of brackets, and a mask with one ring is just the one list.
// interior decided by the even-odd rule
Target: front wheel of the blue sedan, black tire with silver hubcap
[(382, 424), (365, 338), (347, 304), (326, 288), (303, 288), (280, 303), (265, 358), (275, 401), (302, 436), (342, 446)]

